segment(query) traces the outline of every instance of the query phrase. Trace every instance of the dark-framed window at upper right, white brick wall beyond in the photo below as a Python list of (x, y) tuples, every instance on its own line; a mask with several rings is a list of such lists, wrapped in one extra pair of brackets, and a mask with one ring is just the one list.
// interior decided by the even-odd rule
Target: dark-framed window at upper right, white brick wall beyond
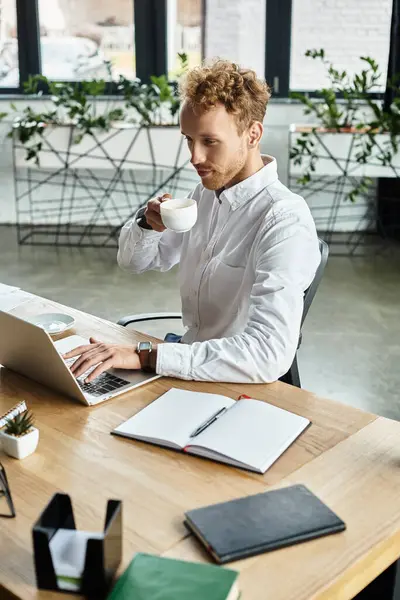
[(391, 13), (392, 0), (266, 0), (265, 75), (275, 97), (326, 84), (322, 63), (305, 56), (320, 48), (350, 76), (360, 71), (360, 56), (375, 59), (384, 91)]

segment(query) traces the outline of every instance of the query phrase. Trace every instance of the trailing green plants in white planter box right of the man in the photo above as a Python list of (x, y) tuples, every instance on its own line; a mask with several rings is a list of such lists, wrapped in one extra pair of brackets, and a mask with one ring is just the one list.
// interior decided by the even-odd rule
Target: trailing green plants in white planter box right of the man
[(329, 85), (316, 90), (313, 98), (291, 93), (304, 105), (304, 114), (315, 118), (309, 126), (292, 128), (291, 174), (304, 186), (315, 175), (350, 175), (345, 197), (354, 202), (368, 191), (373, 177), (400, 174), (400, 75), (388, 82), (395, 97), (385, 110), (371, 95), (381, 80), (374, 59), (360, 57), (364, 68), (350, 76), (337, 70), (323, 49), (307, 50), (306, 56), (322, 61)]

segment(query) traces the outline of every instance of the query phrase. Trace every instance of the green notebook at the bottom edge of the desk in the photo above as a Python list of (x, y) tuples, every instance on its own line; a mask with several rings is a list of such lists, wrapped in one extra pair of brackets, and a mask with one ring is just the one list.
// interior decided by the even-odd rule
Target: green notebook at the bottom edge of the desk
[(237, 577), (215, 565), (139, 553), (107, 600), (237, 600)]

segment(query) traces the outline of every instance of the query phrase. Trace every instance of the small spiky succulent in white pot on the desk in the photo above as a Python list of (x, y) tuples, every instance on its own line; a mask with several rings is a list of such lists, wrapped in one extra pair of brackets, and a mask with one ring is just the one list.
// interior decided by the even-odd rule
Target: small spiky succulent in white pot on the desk
[(32, 454), (39, 442), (39, 430), (33, 426), (34, 416), (25, 411), (8, 419), (0, 429), (0, 440), (3, 450), (14, 458), (25, 458)]

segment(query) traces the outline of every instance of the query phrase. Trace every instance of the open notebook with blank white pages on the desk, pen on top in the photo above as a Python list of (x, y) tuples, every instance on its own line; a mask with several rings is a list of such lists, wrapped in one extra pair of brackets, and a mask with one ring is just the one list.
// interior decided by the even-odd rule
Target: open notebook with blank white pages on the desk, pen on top
[(260, 400), (172, 388), (112, 433), (265, 473), (309, 424)]

